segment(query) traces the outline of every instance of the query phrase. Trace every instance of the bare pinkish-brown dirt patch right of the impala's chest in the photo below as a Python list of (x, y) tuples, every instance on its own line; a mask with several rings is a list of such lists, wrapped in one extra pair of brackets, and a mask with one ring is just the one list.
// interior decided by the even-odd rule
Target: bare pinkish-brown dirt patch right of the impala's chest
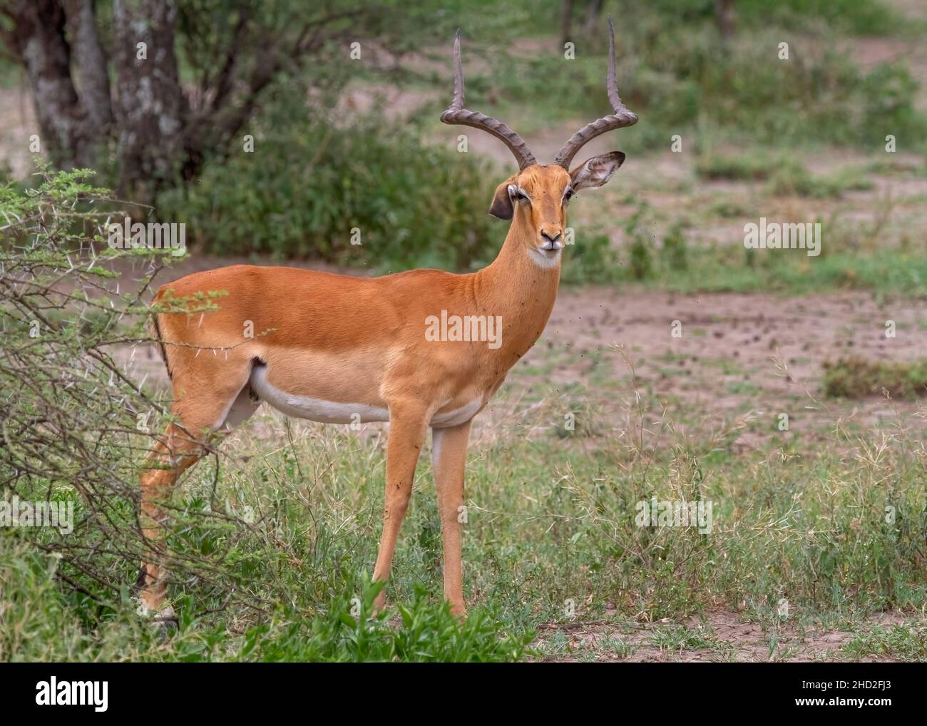
[[(895, 338), (886, 338), (889, 320)], [(561, 294), (544, 339), (571, 351), (553, 377), (589, 388), (603, 377), (630, 385), (627, 364), (609, 351), (623, 345), (638, 388), (683, 425), (696, 426), (690, 421), (695, 417), (720, 427), (750, 412), (764, 419), (758, 428), (766, 430), (776, 415), (788, 413), (793, 436), (818, 436), (838, 419), (871, 426), (894, 424), (900, 416), (908, 425), (923, 425), (913, 416), (923, 410), (918, 401), (828, 400), (821, 392), (829, 361), (860, 356), (904, 362), (927, 354), (923, 300), (880, 304), (863, 293), (779, 298), (585, 289)], [(608, 375), (597, 371), (602, 362)], [(738, 443), (753, 446), (767, 436), (748, 430)]]

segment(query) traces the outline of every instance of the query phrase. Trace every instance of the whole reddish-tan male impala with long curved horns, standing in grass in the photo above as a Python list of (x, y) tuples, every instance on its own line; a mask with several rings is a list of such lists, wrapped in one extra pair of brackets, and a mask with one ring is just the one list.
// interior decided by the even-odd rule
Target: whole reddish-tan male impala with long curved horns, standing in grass
[[(618, 97), (611, 20), (609, 31), (607, 87), (615, 113), (573, 134), (547, 165), (539, 164), (504, 123), (464, 108), (457, 33), (454, 95), (441, 121), (496, 136), (518, 161), (518, 172), (498, 186), (489, 209), (512, 220), (489, 267), (474, 274), (412, 270), (362, 278), (234, 265), (161, 287), (156, 300), (169, 290), (174, 297), (208, 290), (227, 295), (219, 299), (218, 311), (205, 315), (154, 316), (180, 423), (168, 427), (151, 454), (161, 468), (148, 468), (141, 477), (151, 544), (139, 574), (146, 610), (172, 617), (165, 602), (159, 503), (170, 496), (180, 473), (203, 455), (201, 444), (208, 437), (244, 421), (267, 401), (284, 414), (312, 421), (346, 424), (360, 416), (389, 422), (383, 534), (374, 569), (379, 581), (389, 577), (415, 465), (431, 427), (444, 595), (454, 613), (464, 614), (458, 507), (464, 503), (470, 422), (534, 345), (551, 314), (567, 202), (582, 189), (605, 184), (625, 155), (613, 151), (567, 171), (570, 162), (590, 139), (637, 121)], [(246, 338), (246, 321), (254, 331), (269, 332)], [(473, 335), (461, 335), (462, 329)], [(216, 349), (222, 352), (215, 354)], [(384, 598), (381, 592), (377, 607)]]

